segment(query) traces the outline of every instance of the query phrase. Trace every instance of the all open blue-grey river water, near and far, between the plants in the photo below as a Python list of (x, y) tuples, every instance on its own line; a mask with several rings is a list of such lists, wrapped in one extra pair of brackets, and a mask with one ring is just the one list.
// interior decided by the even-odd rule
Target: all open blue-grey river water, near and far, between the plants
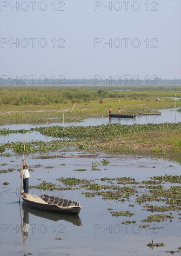
[[(156, 116), (158, 122), (174, 122), (174, 112), (172, 110), (161, 110), (162, 115)], [(155, 117), (155, 116), (153, 116)], [(151, 118), (150, 116), (148, 118)], [(165, 120), (164, 120), (165, 118)], [(181, 113), (176, 112), (176, 121), (181, 121)], [(87, 119), (81, 123), (65, 123), (68, 125), (98, 125), (102, 124), (102, 119)], [(141, 116), (142, 123), (146, 123), (146, 116)], [(117, 121), (117, 120), (115, 120)], [(151, 121), (151, 120), (148, 120)], [(109, 122), (105, 119), (105, 123)], [(114, 120), (112, 120), (112, 123)], [(121, 123), (124, 121), (121, 120)], [(126, 121), (125, 121), (126, 122)], [(130, 120), (127, 121), (131, 122)], [(134, 121), (135, 122), (135, 121)], [(55, 124), (51, 124), (55, 125)], [(62, 125), (62, 124), (58, 124)], [(10, 129), (29, 129), (37, 125), (8, 125)], [(42, 125), (41, 125), (42, 126)], [(46, 125), (43, 125), (46, 126)], [(7, 126), (1, 126), (5, 128)], [(23, 141), (24, 135), (10, 134), (1, 136), (1, 143), (7, 141)], [(31, 140), (51, 140), (37, 132), (27, 133), (27, 141)], [(179, 163), (163, 160), (161, 158), (151, 158), (149, 155), (105, 155), (104, 152), (94, 154), (92, 157), (81, 157), (85, 152), (65, 152), (65, 156), (59, 159), (34, 159), (35, 155), (26, 155), (26, 162), (33, 168), (30, 172), (29, 184), (38, 185), (42, 181), (53, 182), (62, 185), (56, 179), (64, 177), (74, 177), (79, 179), (94, 180), (95, 183), (103, 184), (102, 177), (132, 177), (137, 182), (148, 180), (156, 175), (180, 175), (181, 166)], [(73, 157), (73, 156), (80, 157)], [(101, 166), (103, 159), (110, 161), (107, 166)], [(12, 162), (13, 161), (13, 162)], [(99, 162), (99, 170), (92, 170), (92, 163)], [(22, 158), (18, 155), (1, 157), (1, 169), (21, 168)], [(3, 165), (7, 164), (7, 165)], [(39, 164), (38, 168), (35, 165)], [(46, 168), (51, 166), (53, 168)], [(86, 169), (84, 172), (75, 169)], [(3, 182), (9, 182), (7, 186)], [(1, 225), (1, 256), (23, 256), (25, 253), (32, 256), (163, 256), (165, 251), (178, 250), (180, 244), (180, 220), (177, 211), (172, 212), (174, 219), (172, 222), (149, 223), (156, 229), (140, 229), (143, 224), (142, 219), (148, 215), (160, 214), (158, 212), (147, 212), (143, 210), (143, 204), (134, 202), (136, 195), (131, 196), (127, 202), (117, 200), (103, 200), (101, 196), (87, 198), (81, 192), (88, 192), (86, 189), (77, 190), (53, 190), (43, 191), (31, 189), (33, 195), (56, 195), (62, 198), (80, 202), (83, 208), (79, 216), (57, 215), (26, 207), (21, 202), (19, 204), (20, 173), (14, 170), (10, 173), (0, 174), (0, 225)], [(104, 184), (109, 184), (104, 182)], [(173, 184), (172, 184), (173, 185)], [(175, 184), (174, 184), (175, 185)], [(167, 187), (168, 184), (165, 184)], [(170, 186), (170, 184), (169, 184)], [(137, 187), (137, 195), (141, 196), (143, 191)], [(161, 202), (164, 204), (164, 202)], [(161, 204), (160, 203), (160, 204)], [(134, 207), (129, 205), (134, 204)], [(150, 204), (158, 204), (153, 202)], [(134, 213), (131, 217), (112, 216), (109, 208), (114, 211), (129, 210)], [(134, 220), (135, 224), (121, 224), (126, 220)], [(21, 224), (27, 224), (28, 235), (23, 242)], [(147, 224), (147, 223), (146, 223)], [(159, 229), (162, 228), (162, 229)], [(25, 236), (24, 236), (25, 238)], [(58, 238), (58, 239), (56, 239)], [(164, 242), (164, 247), (150, 249), (147, 243)], [(179, 255), (179, 253), (175, 253)]]

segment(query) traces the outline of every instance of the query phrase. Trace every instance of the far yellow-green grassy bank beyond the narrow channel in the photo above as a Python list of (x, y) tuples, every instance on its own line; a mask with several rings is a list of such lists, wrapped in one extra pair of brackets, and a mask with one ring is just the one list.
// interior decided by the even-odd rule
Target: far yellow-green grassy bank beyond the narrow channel
[[(129, 88), (129, 87), (127, 87)], [(110, 89), (110, 87), (108, 88)], [(112, 88), (111, 88), (112, 89)], [(117, 88), (118, 89), (118, 88)], [(175, 90), (114, 91), (107, 88), (0, 88), (1, 125), (9, 123), (47, 123), (78, 121), (85, 118), (108, 116), (108, 108), (117, 113), (137, 114), (142, 109), (154, 111), (174, 108)], [(155, 102), (155, 98), (160, 98)], [(103, 104), (100, 104), (103, 100)], [(118, 100), (120, 102), (118, 102)], [(74, 110), (71, 110), (74, 106)], [(177, 101), (177, 107), (181, 101)]]

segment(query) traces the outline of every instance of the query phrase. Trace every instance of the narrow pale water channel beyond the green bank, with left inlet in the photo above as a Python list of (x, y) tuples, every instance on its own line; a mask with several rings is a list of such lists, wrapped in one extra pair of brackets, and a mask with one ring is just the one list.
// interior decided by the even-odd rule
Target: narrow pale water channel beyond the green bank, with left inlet
[[(102, 124), (114, 124), (114, 123), (120, 123), (120, 124), (147, 124), (147, 123), (162, 123), (162, 122), (181, 122), (181, 112), (175, 111), (174, 108), (170, 109), (161, 109), (160, 110), (161, 115), (139, 115), (133, 118), (108, 118), (103, 117), (101, 115), (96, 114), (94, 118), (88, 118), (81, 122), (70, 122), (64, 123), (64, 127), (68, 126), (97, 126)], [(49, 126), (63, 126), (62, 123), (51, 123)], [(8, 125), (2, 125), (0, 128), (9, 128), (11, 130), (19, 130), (19, 129), (27, 129), (30, 128), (36, 128), (36, 127), (47, 127), (47, 124), (8, 124)], [(22, 141), (22, 137), (24, 137), (22, 134), (8, 134), (8, 135), (1, 135), (0, 143), (7, 143), (8, 141)], [(54, 138), (41, 135), (39, 132), (32, 132), (27, 133), (26, 141), (30, 142), (31, 140), (39, 140), (39, 141), (51, 141), (54, 140)]]

